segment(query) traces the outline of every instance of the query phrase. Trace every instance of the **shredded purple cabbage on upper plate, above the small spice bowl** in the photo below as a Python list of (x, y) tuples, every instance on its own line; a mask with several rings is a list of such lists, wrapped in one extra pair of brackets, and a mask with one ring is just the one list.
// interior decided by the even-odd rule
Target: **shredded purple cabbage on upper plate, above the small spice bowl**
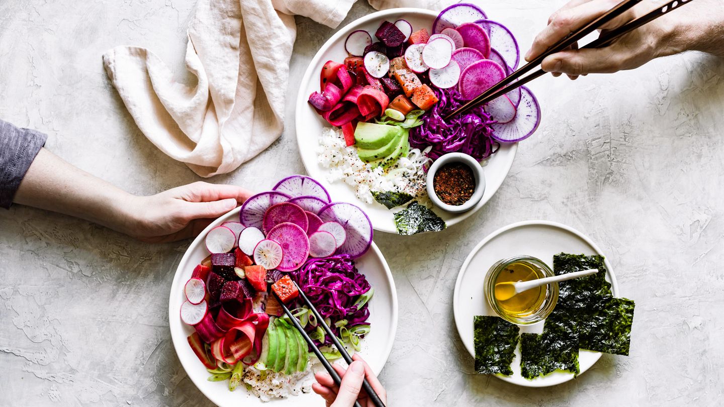
[(450, 122), (445, 122), (442, 117), (452, 113), (466, 101), (463, 101), (456, 87), (431, 88), (439, 101), (421, 116), (422, 125), (410, 130), (410, 146), (421, 150), (432, 146), (432, 151), (427, 154), (431, 159), (459, 151), (481, 161), (495, 154), (500, 143), (491, 137), (492, 129), (489, 125), (495, 121), (490, 114), (479, 106), (469, 113), (458, 114), (450, 119)]

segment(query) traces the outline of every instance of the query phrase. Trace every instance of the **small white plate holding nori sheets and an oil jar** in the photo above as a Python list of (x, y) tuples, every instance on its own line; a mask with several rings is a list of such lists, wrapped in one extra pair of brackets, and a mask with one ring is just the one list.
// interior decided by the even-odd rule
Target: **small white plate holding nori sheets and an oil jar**
[[(478, 246), (473, 248), (468, 258), (460, 268), (458, 281), (455, 282), (455, 293), (452, 295), (452, 312), (455, 315), (455, 325), (458, 327), (460, 339), (474, 357), (473, 348), (473, 316), (494, 315), (494, 311), (487, 305), (483, 293), (483, 280), (490, 267), (498, 260), (510, 256), (533, 256), (541, 259), (553, 268), (553, 255), (564, 253), (605, 256), (598, 246), (585, 235), (571, 227), (560, 223), (542, 220), (513, 223), (492, 232), (484, 238)], [(611, 283), (613, 296), (618, 296), (618, 284), (608, 259), (605, 259), (608, 269), (606, 280)], [(565, 283), (564, 283), (565, 284)], [(541, 333), (543, 322), (521, 326), (521, 332)], [(581, 374), (586, 372), (601, 357), (601, 353), (593, 351), (579, 351), (578, 364)], [(529, 380), (521, 376), (521, 345), (515, 348), (513, 359), (513, 374), (511, 376), (495, 376), (515, 385), (526, 387), (545, 387), (558, 385), (573, 379), (573, 374), (556, 371), (544, 377)]]

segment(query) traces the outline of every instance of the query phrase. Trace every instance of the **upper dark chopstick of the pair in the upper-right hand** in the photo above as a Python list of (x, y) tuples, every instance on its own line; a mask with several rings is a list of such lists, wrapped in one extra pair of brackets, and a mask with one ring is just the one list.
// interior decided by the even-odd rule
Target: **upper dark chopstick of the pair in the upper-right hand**
[[(479, 104), (481, 104), (481, 101), (483, 101), (485, 98), (487, 98), (487, 96), (491, 95), (492, 93), (495, 93), (494, 89), (500, 89), (501, 86), (505, 86), (505, 85), (508, 85), (509, 83), (513, 83), (519, 77), (526, 74), (527, 72), (530, 72), (535, 67), (537, 67), (539, 64), (541, 64), (541, 62), (543, 62), (543, 59), (545, 59), (546, 56), (549, 56), (549, 55), (555, 54), (557, 52), (563, 51), (564, 49), (567, 49), (569, 46), (580, 41), (581, 38), (584, 38), (586, 35), (593, 33), (599, 27), (601, 27), (602, 25), (605, 25), (607, 22), (610, 22), (614, 18), (620, 16), (621, 14), (626, 12), (628, 9), (631, 9), (631, 7), (635, 6), (636, 4), (639, 4), (641, 1), (642, 0), (621, 1), (616, 7), (613, 7), (613, 9), (610, 9), (609, 11), (607, 11), (605, 14), (601, 15), (597, 19), (584, 25), (583, 28), (578, 29), (576, 32), (571, 33), (570, 35), (566, 36), (565, 38), (562, 38), (560, 41), (558, 41), (553, 46), (551, 46), (549, 49), (547, 49), (543, 54), (536, 56), (536, 58), (533, 59), (531, 62), (518, 68), (518, 70), (511, 73), (507, 77), (504, 77), (499, 83), (492, 85), (489, 90), (481, 93), (479, 96), (477, 96), (476, 98), (473, 98), (473, 100), (469, 101), (468, 103), (464, 104), (463, 106), (460, 106), (457, 110), (455, 110), (455, 112), (448, 114), (445, 117), (445, 120), (450, 119), (450, 117), (453, 117), (456, 114), (468, 112), (468, 110), (473, 109), (473, 107), (475, 107), (475, 106), (479, 106)], [(679, 1), (681, 1), (681, 0), (679, 0)], [(540, 75), (542, 75), (542, 74), (540, 74)], [(538, 75), (538, 76), (540, 76), (540, 75)], [(530, 80), (533, 80), (533, 79), (535, 79), (535, 78), (532, 78)], [(526, 80), (523, 83), (521, 83), (521, 80), (518, 80), (518, 83), (516, 84), (516, 86), (513, 86), (513, 88), (510, 88), (510, 89), (511, 90), (515, 89), (518, 86), (523, 85), (524, 83), (528, 83), (530, 80)]]

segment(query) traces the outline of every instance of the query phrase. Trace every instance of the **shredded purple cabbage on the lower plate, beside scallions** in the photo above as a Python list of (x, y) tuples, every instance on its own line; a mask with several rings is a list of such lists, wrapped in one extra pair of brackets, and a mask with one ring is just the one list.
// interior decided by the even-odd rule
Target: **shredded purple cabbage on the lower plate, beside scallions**
[[(360, 309), (354, 305), (359, 296), (370, 289), (369, 282), (355, 267), (355, 262), (347, 254), (330, 256), (324, 259), (312, 259), (290, 276), (304, 291), (314, 304), (319, 314), (329, 318), (334, 335), (339, 336), (339, 328), (334, 324), (346, 319), (346, 327), (364, 324), (369, 318), (368, 303)], [(298, 306), (301, 306), (299, 302)], [(369, 323), (367, 324), (369, 325)], [(307, 331), (314, 330), (311, 324), (306, 326)], [(316, 345), (331, 345), (332, 338), (324, 335), (324, 342), (315, 340)]]

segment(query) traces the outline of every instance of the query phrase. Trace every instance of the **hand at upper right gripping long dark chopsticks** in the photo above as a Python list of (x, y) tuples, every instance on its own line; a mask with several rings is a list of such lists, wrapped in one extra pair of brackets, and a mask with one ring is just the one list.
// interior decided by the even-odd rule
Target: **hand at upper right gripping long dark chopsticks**
[[(548, 20), (548, 25), (539, 33), (525, 56), (531, 61), (542, 54), (561, 38), (582, 28), (587, 23), (605, 14), (621, 0), (571, 0)], [(619, 17), (602, 26), (611, 30), (634, 20), (654, 9), (655, 1), (642, 1), (636, 7), (628, 9)], [(619, 70), (632, 70), (659, 56), (676, 54), (686, 47), (683, 40), (684, 25), (677, 16), (667, 14), (599, 49), (571, 49), (547, 56), (541, 67), (554, 76), (568, 74), (571, 79), (589, 73), (611, 73)]]

